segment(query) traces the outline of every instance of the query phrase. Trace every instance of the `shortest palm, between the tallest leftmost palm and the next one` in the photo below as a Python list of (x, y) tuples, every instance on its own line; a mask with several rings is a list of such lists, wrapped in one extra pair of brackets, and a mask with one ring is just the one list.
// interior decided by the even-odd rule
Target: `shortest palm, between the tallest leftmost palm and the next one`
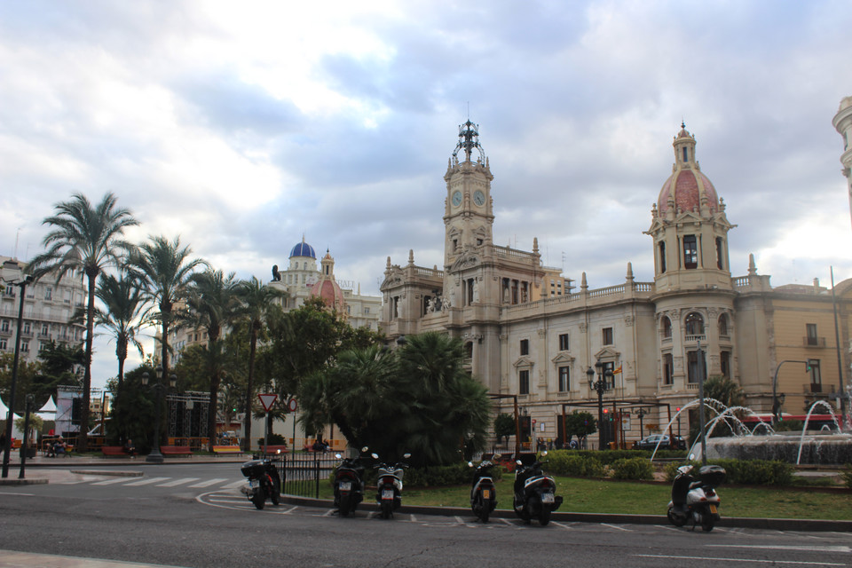
[(101, 274), (98, 289), (95, 292), (106, 310), (95, 310), (95, 323), (106, 327), (115, 338), (115, 357), (118, 359), (118, 390), (124, 381), (124, 361), (127, 359), (128, 345), (145, 355), (142, 343), (137, 335), (141, 319), (145, 314), (143, 290), (137, 279), (127, 273), (121, 278), (112, 274)]

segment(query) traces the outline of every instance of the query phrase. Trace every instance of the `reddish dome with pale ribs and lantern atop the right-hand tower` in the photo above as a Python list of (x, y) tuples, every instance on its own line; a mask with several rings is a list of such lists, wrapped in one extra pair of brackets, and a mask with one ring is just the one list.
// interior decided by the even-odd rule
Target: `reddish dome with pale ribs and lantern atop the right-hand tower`
[(695, 159), (695, 137), (686, 130), (684, 124), (681, 124), (681, 131), (672, 146), (675, 146), (675, 164), (672, 175), (659, 190), (657, 208), (660, 214), (665, 213), (670, 206), (674, 206), (675, 212), (678, 209), (700, 211), (702, 204), (706, 204), (711, 214), (718, 211), (719, 195), (710, 179), (701, 173)]

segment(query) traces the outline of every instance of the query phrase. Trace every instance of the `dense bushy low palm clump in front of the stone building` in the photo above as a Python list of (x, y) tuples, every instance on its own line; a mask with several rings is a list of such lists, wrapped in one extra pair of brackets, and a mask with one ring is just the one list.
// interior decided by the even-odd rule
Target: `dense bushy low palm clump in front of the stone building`
[(413, 335), (397, 351), (346, 351), (302, 385), (304, 423), (335, 422), (352, 446), (415, 464), (461, 459), (485, 446), (491, 401), (463, 367), (461, 340)]

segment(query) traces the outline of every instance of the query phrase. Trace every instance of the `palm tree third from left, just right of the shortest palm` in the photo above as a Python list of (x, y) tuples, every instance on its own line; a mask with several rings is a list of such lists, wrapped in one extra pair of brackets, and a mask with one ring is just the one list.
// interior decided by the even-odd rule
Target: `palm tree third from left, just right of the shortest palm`
[[(169, 376), (169, 332), (175, 320), (175, 306), (185, 300), (187, 287), (196, 268), (206, 266), (201, 258), (190, 258), (192, 248), (181, 247), (180, 237), (150, 237), (130, 255), (130, 271), (143, 285), (143, 297), (154, 304), (147, 321), (160, 325), (162, 376)], [(215, 414), (215, 409), (211, 410)]]

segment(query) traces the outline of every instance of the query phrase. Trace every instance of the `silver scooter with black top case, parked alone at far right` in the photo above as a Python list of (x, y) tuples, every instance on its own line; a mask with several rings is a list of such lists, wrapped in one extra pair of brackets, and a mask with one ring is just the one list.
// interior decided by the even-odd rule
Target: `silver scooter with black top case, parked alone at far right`
[(706, 465), (698, 469), (698, 479), (692, 477), (692, 466), (683, 465), (677, 469), (675, 483), (672, 484), (672, 501), (668, 501), (668, 520), (672, 525), (683, 526), (691, 519), (692, 530), (696, 525), (709, 533), (719, 515), (722, 498), (715, 488), (725, 482), (725, 470), (717, 465)]

